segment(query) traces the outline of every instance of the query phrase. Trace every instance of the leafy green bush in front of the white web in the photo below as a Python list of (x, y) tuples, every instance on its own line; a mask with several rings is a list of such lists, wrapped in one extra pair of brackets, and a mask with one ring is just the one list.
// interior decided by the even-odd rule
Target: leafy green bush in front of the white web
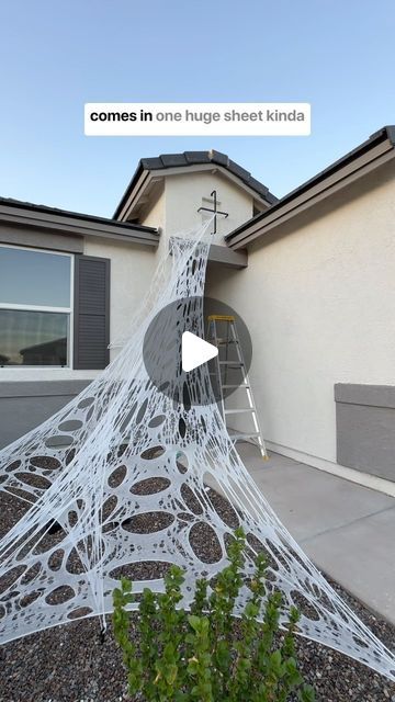
[[(246, 539), (236, 530), (228, 548), (229, 565), (212, 582), (198, 580), (188, 612), (179, 608), (183, 570), (170, 568), (166, 591), (145, 589), (134, 622), (138, 644), (129, 638), (134, 601), (132, 582), (122, 578), (113, 593), (114, 633), (123, 652), (129, 694), (149, 702), (313, 702), (314, 690), (304, 683), (295, 658), (298, 612), (291, 608), (285, 632), (279, 633), (282, 595), (264, 600), (266, 562), (256, 559), (249, 580), (251, 596), (240, 619), (233, 616), (245, 584)], [(261, 613), (262, 622), (257, 621)]]

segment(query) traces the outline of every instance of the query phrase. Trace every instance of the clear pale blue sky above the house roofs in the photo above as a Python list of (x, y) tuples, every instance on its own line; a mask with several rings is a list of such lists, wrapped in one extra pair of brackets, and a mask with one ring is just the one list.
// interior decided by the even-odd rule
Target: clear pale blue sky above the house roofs
[[(0, 195), (111, 216), (140, 157), (225, 151), (281, 196), (395, 123), (393, 0), (10, 0)], [(86, 137), (84, 102), (311, 102), (311, 137)]]

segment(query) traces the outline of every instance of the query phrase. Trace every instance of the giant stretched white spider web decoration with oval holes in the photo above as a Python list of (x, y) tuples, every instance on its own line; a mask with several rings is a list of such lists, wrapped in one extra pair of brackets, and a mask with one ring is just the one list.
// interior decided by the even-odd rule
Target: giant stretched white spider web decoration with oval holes
[[(108, 369), (0, 452), (2, 497), (26, 508), (0, 542), (0, 642), (84, 616), (98, 615), (104, 624), (122, 573), (133, 576), (134, 592), (140, 592), (162, 590), (166, 565), (185, 568), (188, 607), (196, 578), (215, 576), (226, 565), (228, 539), (241, 525), (251, 548), (246, 574), (253, 569), (253, 551), (263, 547), (268, 590), (284, 595), (281, 621), (295, 604), (301, 635), (395, 680), (394, 655), (280, 522), (234, 449), (216, 404), (193, 405), (193, 385), (192, 403), (184, 396), (172, 401), (147, 375), (144, 336), (166, 305), (180, 301), (180, 336), (192, 325), (203, 337), (202, 305), (190, 309), (185, 298), (203, 299), (208, 225), (172, 239), (171, 256), (162, 258), (127, 341)], [(198, 371), (199, 385), (207, 386), (206, 365)], [(229, 501), (228, 517), (218, 512), (207, 485)], [(142, 533), (142, 520), (151, 524), (149, 533)], [(54, 523), (60, 525), (55, 532)], [(202, 561), (196, 546), (208, 540), (213, 563)], [(142, 579), (142, 563), (154, 575), (157, 566), (158, 577)], [(236, 613), (248, 593), (246, 586)]]

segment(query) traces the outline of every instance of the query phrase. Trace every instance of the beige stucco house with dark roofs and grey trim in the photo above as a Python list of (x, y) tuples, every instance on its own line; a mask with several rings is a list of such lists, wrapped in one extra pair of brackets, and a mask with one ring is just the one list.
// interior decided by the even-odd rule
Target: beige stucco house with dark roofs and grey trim
[(0, 445), (105, 367), (171, 235), (217, 206), (206, 293), (253, 342), (269, 449), (395, 480), (395, 127), (281, 200), (217, 151), (143, 159), (113, 219), (0, 200)]

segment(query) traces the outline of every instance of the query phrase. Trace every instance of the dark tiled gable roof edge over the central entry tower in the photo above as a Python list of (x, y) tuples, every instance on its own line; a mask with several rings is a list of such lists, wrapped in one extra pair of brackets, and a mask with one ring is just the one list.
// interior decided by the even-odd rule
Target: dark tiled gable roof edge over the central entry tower
[(266, 200), (269, 204), (275, 203), (278, 199), (263, 185), (259, 180), (253, 178), (249, 171), (229, 159), (226, 154), (221, 151), (184, 151), (183, 154), (162, 154), (154, 158), (142, 158), (137, 169), (127, 185), (120, 204), (117, 205), (113, 218), (117, 219), (125, 206), (133, 189), (138, 182), (144, 171), (160, 171), (177, 168), (185, 168), (187, 166), (206, 166), (214, 165), (224, 168), (226, 171), (236, 176), (245, 185), (248, 185), (259, 197)]

